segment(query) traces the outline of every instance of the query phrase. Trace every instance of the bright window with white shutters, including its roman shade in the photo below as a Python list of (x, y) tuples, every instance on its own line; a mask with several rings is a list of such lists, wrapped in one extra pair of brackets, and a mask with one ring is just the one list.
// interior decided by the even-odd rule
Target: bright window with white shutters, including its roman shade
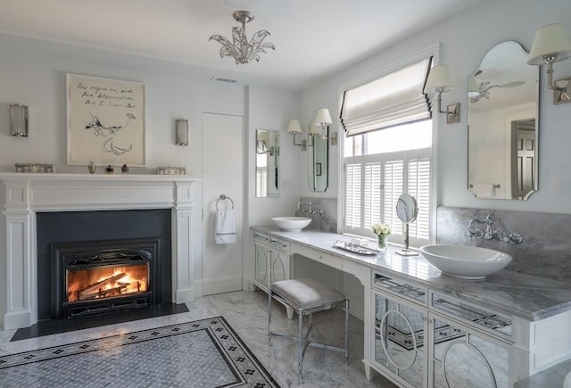
[[(387, 86), (389, 84), (379, 81), (410, 70), (406, 67), (343, 93), (342, 123), (345, 126), (343, 117), (349, 123), (349, 128), (345, 126), (347, 137), (343, 142), (343, 233), (374, 237), (371, 226), (377, 222), (388, 222), (393, 227), (393, 235), (389, 236), (389, 240), (403, 244), (404, 224), (398, 219), (395, 208), (399, 196), (409, 193), (417, 199), (419, 209), (417, 220), (409, 225), (410, 245), (420, 246), (429, 242), (433, 196), (433, 123), (430, 119), (430, 100), (422, 94), (422, 88), (431, 62), (432, 57), (428, 56), (410, 65), (415, 67), (412, 73), (417, 78), (415, 82), (407, 82), (409, 87), (406, 93), (397, 90), (400, 86), (392, 90)], [(414, 84), (414, 91), (410, 88), (411, 84)], [(381, 85), (383, 87), (376, 96), (375, 86)], [(358, 90), (367, 90), (368, 97), (364, 98), (355, 92)], [(363, 113), (366, 110), (373, 111), (368, 120), (356, 120), (355, 115), (351, 117), (350, 111), (343, 111), (350, 92), (360, 95), (363, 103), (362, 107), (352, 106), (351, 111), (359, 111), (361, 117), (362, 114), (367, 114)], [(407, 98), (401, 104), (405, 107), (401, 110), (375, 108), (380, 106), (379, 103), (386, 106), (387, 102), (399, 100), (403, 95)], [(422, 98), (418, 98), (418, 95)], [(352, 103), (357, 101), (353, 99)], [(421, 108), (421, 102), (424, 103), (424, 108)], [(415, 109), (407, 108), (411, 105)], [(384, 117), (379, 113), (383, 110), (389, 111), (390, 115)], [(376, 118), (380, 120), (376, 122)], [(398, 120), (393, 120), (394, 118)], [(363, 122), (366, 125), (357, 128)]]

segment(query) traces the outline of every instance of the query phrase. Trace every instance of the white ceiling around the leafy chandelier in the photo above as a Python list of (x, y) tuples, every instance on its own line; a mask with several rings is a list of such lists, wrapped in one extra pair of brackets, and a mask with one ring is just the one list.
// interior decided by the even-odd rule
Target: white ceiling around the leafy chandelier
[[(233, 78), (302, 88), (482, 0), (0, 0), (0, 33), (185, 63)], [(260, 62), (220, 58), (232, 13), (267, 29)]]

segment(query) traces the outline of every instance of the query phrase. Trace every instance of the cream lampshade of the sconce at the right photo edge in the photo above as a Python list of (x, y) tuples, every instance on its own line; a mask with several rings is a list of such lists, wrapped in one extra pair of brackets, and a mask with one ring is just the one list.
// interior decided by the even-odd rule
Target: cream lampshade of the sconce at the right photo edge
[(527, 64), (542, 65), (545, 56), (555, 56), (552, 62), (571, 57), (571, 39), (563, 24), (549, 24), (537, 30)]

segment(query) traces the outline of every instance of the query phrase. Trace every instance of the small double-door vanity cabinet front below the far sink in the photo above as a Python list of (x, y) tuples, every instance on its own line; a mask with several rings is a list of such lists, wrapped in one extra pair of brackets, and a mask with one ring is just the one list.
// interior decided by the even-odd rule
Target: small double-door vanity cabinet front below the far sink
[(289, 246), (284, 240), (259, 232), (253, 232), (252, 242), (252, 283), (267, 293), (273, 282), (289, 278)]

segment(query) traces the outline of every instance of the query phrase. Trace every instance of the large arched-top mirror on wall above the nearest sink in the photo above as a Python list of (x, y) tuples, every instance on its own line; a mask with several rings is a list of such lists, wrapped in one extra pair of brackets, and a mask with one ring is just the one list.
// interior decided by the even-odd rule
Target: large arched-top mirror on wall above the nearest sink
[(516, 42), (495, 45), (468, 76), (468, 190), (525, 200), (537, 191), (537, 66)]

